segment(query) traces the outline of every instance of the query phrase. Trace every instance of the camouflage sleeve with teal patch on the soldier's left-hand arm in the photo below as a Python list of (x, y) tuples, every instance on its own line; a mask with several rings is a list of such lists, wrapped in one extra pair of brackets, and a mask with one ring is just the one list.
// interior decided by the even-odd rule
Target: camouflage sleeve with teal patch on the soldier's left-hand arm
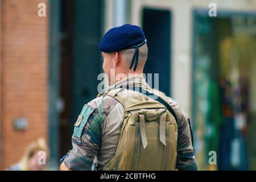
[(91, 170), (101, 144), (102, 117), (99, 108), (84, 105), (75, 123), (72, 135), (72, 150), (64, 156), (63, 162), (72, 170)]

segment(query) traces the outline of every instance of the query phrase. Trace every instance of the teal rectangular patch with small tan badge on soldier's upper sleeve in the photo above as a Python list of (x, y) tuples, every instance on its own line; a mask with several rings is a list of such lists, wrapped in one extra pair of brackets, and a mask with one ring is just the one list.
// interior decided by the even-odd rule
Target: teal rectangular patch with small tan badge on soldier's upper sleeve
[(88, 121), (88, 118), (90, 117), (90, 115), (93, 113), (94, 110), (95, 108), (93, 108), (92, 106), (89, 106), (87, 104), (84, 105), (84, 107), (82, 108), (81, 114), (79, 115), (75, 123), (75, 129), (73, 133), (75, 137), (81, 138), (82, 130), (84, 129), (84, 126)]

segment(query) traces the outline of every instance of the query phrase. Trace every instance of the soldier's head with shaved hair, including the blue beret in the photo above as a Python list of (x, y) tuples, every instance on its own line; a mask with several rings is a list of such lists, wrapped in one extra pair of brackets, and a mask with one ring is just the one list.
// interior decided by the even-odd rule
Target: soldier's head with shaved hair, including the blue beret
[[(101, 40), (100, 50), (104, 60), (102, 68), (110, 85), (130, 73), (143, 73), (148, 50), (140, 27), (125, 24), (110, 29)], [(110, 74), (112, 71), (114, 74)]]

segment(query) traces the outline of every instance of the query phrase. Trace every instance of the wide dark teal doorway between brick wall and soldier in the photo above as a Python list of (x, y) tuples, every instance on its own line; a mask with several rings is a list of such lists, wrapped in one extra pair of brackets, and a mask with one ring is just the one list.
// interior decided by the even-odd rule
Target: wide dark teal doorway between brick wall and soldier
[(50, 1), (49, 147), (52, 166), (72, 149), (73, 125), (97, 96), (102, 1)]

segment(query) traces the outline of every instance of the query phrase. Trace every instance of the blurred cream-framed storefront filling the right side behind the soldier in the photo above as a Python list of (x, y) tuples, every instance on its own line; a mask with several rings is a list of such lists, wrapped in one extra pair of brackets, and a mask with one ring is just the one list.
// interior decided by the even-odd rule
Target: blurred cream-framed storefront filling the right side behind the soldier
[[(169, 67), (159, 73), (170, 78), (169, 94), (192, 118), (199, 168), (255, 170), (256, 1), (216, 1), (216, 17), (208, 14), (210, 3), (131, 1), (130, 19), (153, 37), (147, 37), (154, 52), (148, 61)], [(166, 64), (162, 53), (169, 41)], [(209, 164), (211, 151), (217, 165)]]

